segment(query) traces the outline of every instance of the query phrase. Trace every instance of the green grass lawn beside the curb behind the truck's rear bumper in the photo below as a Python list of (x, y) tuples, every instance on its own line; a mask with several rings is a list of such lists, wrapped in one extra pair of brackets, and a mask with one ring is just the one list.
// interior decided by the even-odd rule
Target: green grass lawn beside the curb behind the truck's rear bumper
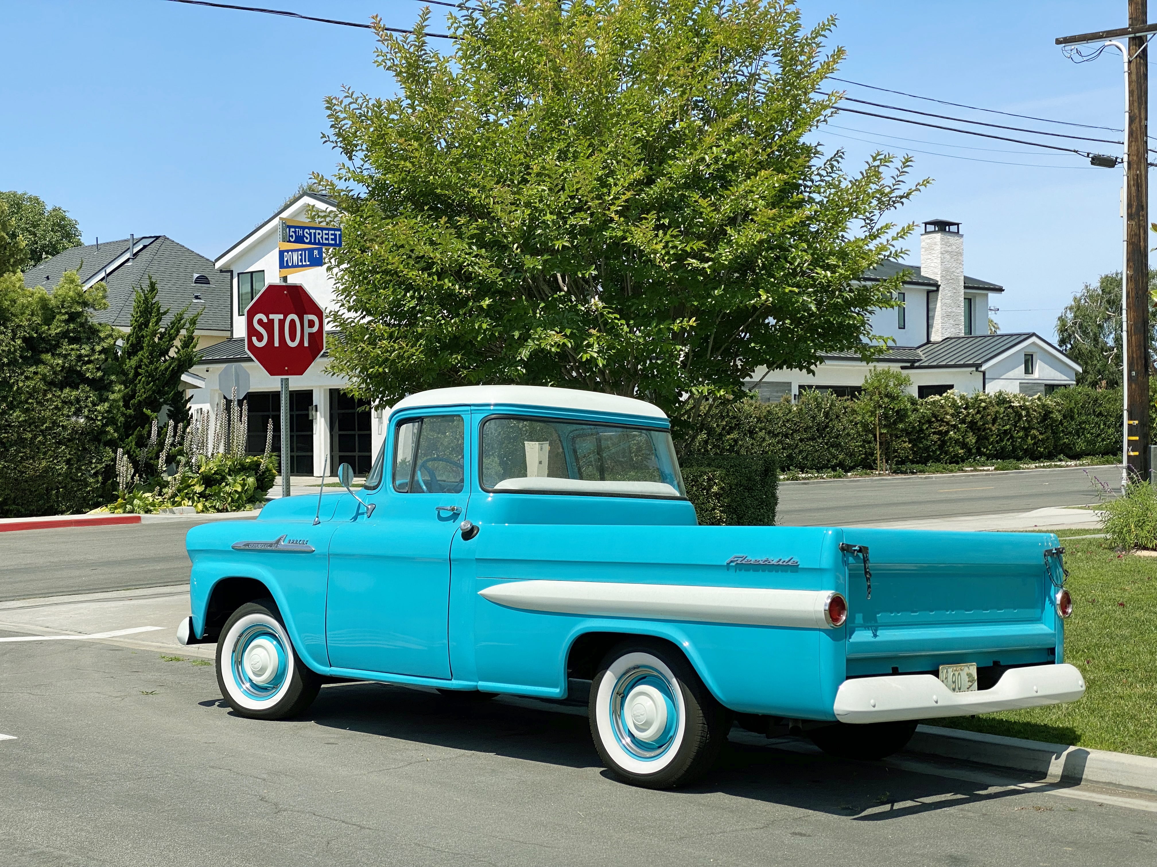
[(1064, 540), (1089, 532), (1057, 533), (1073, 594), (1064, 661), (1084, 673), (1084, 698), (928, 725), (1157, 756), (1157, 557), (1117, 554), (1105, 539)]

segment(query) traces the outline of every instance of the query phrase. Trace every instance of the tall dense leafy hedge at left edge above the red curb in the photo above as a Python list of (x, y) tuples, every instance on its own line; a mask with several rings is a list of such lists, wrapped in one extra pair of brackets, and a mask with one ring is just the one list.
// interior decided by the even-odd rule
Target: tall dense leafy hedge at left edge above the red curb
[(0, 516), (61, 514), (102, 502), (112, 465), (113, 334), (91, 313), (104, 283), (67, 272), (50, 295), (0, 276)]

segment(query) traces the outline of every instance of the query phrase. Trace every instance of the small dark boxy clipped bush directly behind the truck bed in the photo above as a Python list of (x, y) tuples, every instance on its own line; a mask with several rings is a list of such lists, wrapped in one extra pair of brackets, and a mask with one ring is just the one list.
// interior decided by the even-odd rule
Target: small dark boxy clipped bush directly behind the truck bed
[(681, 461), (687, 497), (701, 525), (775, 523), (779, 475), (764, 454), (687, 455)]

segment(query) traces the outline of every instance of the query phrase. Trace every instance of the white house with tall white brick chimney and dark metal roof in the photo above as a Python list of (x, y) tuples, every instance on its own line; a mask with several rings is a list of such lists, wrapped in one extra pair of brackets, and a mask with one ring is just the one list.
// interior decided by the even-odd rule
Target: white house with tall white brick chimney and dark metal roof
[(953, 388), (1047, 394), (1076, 383), (1081, 365), (1039, 334), (988, 333), (989, 296), (1004, 288), (965, 275), (959, 223), (929, 220), (920, 236), (920, 265), (885, 261), (863, 280), (886, 280), (901, 271), (900, 306), (877, 310), (871, 318), (872, 332), (891, 339), (880, 358), (865, 364), (856, 353), (830, 353), (815, 373), (760, 368), (747, 387), (762, 401), (797, 400), (809, 388), (852, 395), (872, 365), (904, 371), (920, 398)]

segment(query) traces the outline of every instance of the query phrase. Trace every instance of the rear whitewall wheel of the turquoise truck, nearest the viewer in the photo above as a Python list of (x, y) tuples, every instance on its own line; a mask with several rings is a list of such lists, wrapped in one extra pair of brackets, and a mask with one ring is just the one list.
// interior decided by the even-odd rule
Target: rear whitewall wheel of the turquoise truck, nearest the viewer
[(686, 785), (705, 773), (730, 721), (686, 658), (648, 639), (624, 642), (603, 658), (588, 714), (603, 764), (647, 788)]

